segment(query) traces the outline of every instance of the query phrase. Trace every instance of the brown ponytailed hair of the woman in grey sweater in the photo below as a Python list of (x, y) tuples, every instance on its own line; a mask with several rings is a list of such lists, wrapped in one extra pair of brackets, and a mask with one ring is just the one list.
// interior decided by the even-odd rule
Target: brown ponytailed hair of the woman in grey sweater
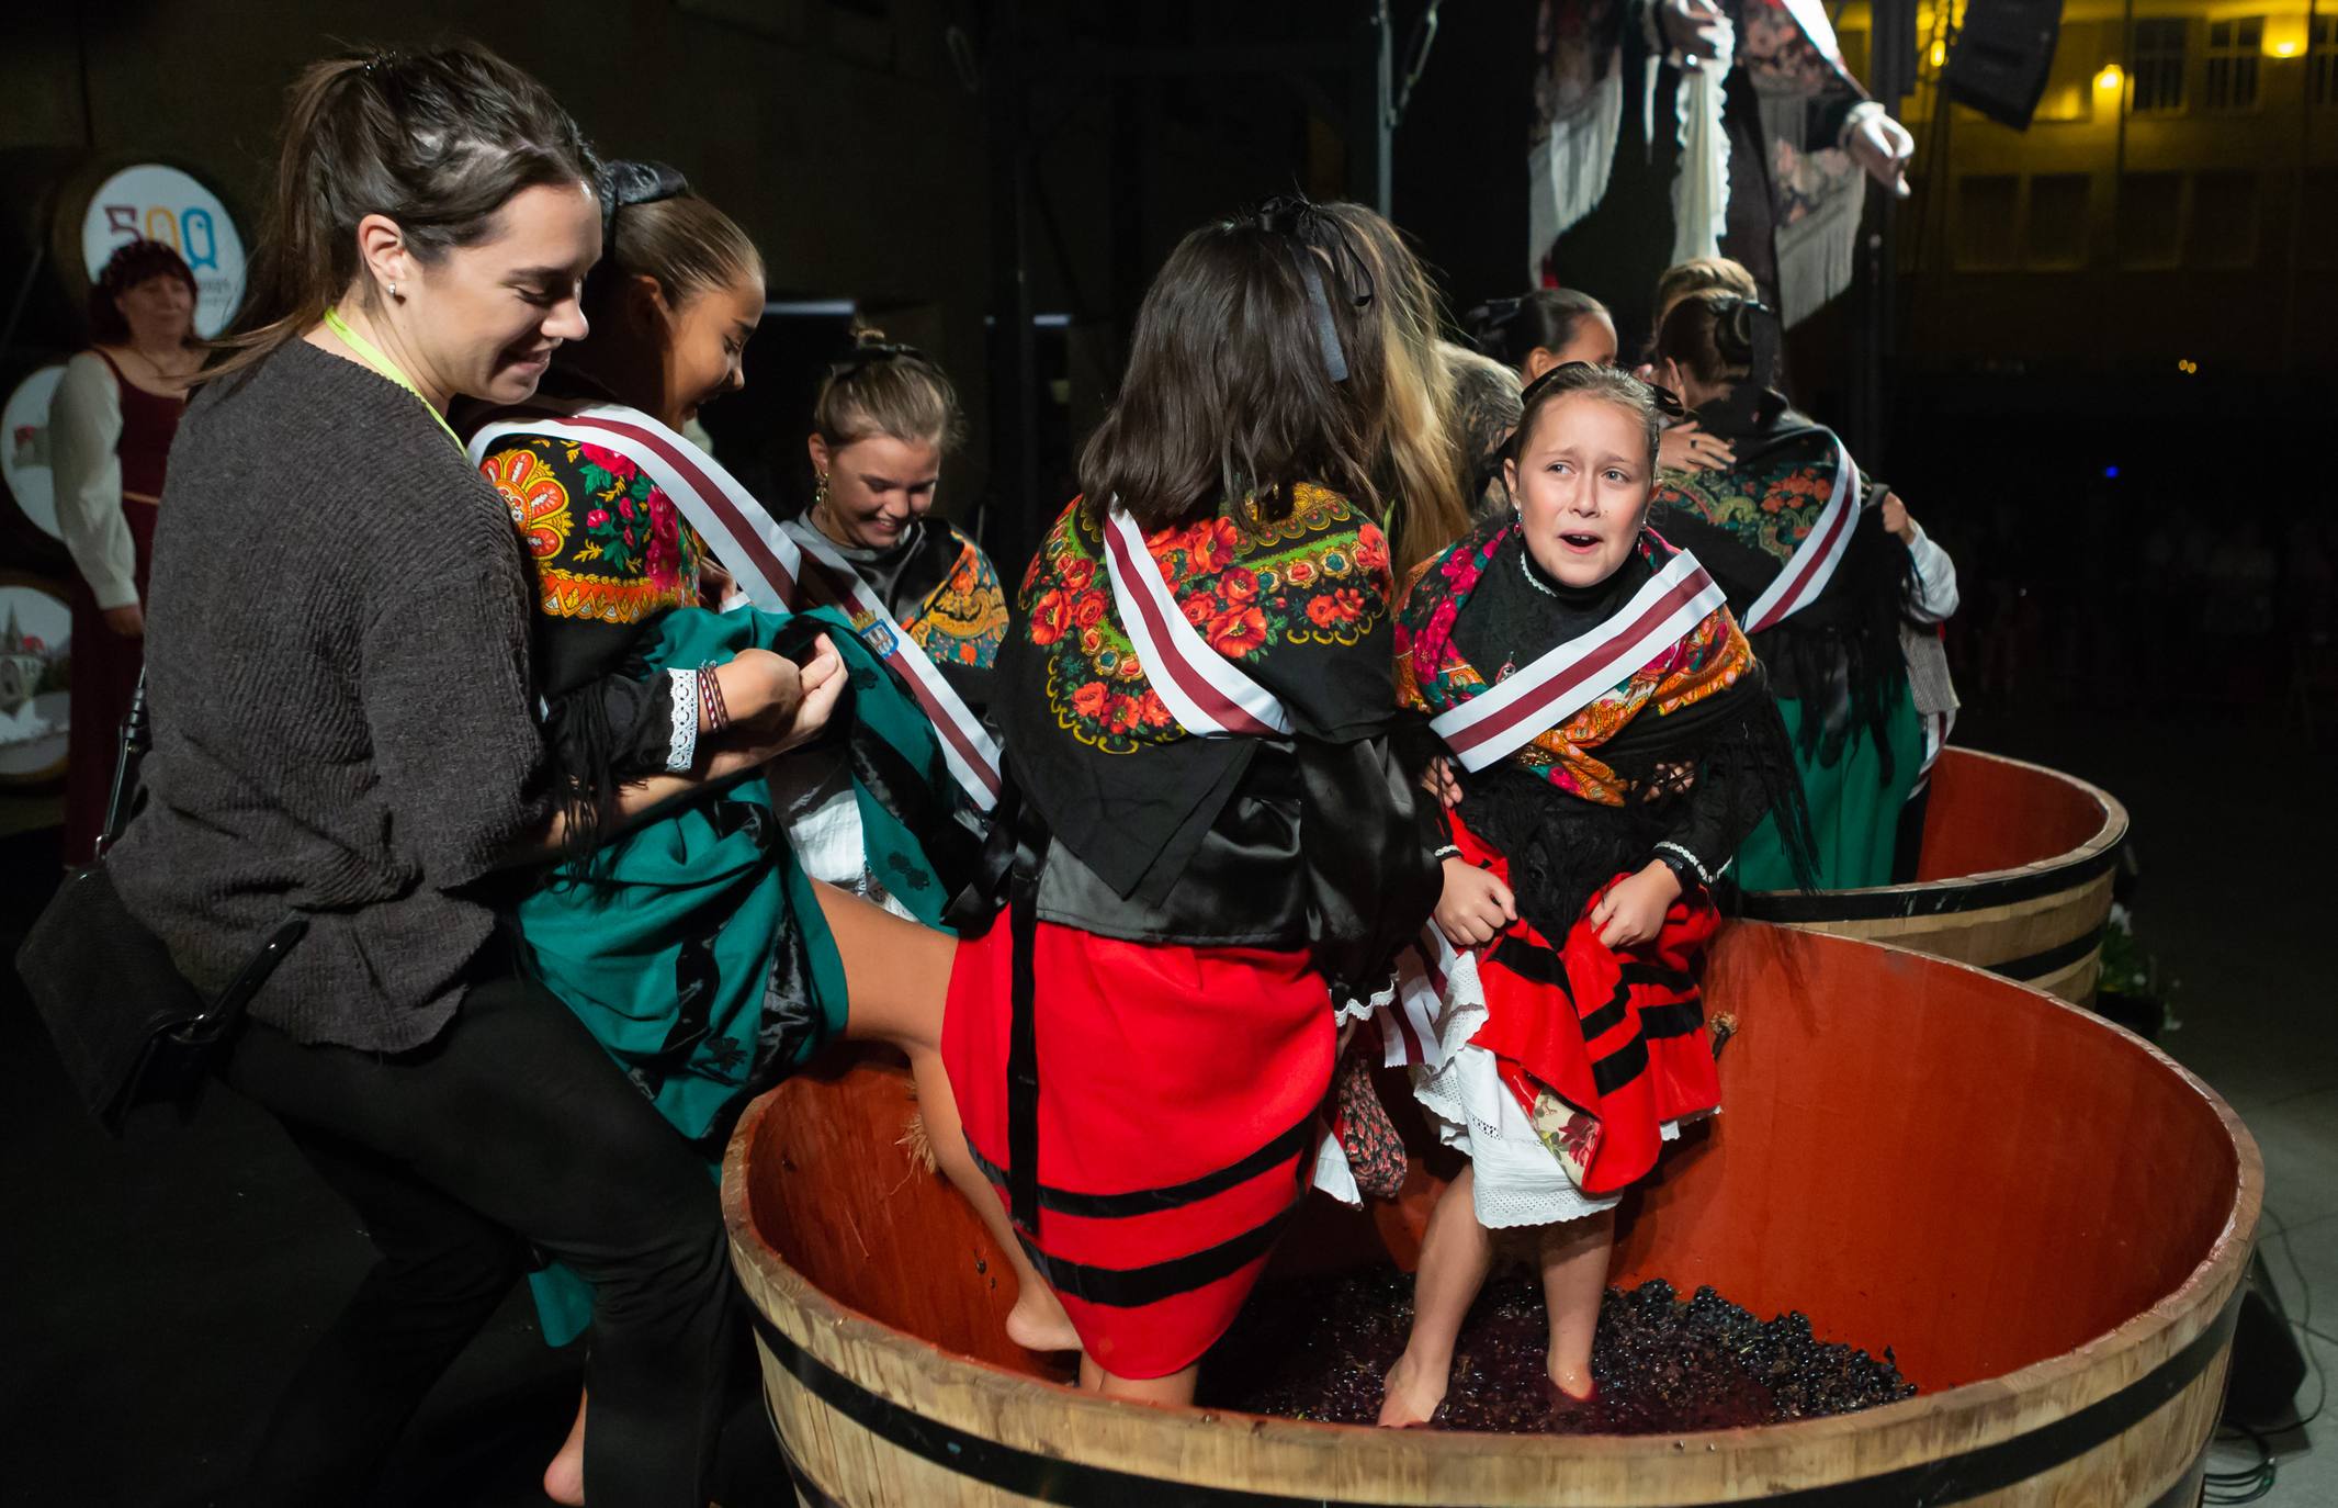
[(250, 302), (220, 339), (231, 355), (210, 376), (257, 362), (323, 318), (358, 281), (367, 215), (395, 220), (430, 262), (486, 241), (521, 189), (592, 178), (592, 147), (568, 112), (484, 47), (311, 63), (285, 110)]

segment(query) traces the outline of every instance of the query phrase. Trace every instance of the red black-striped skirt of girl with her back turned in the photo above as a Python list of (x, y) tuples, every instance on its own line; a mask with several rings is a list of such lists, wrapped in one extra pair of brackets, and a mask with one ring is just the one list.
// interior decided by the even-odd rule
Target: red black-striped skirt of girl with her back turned
[[(1015, 928), (959, 945), (942, 1059), (966, 1141), (1008, 1183)], [(1305, 952), (1120, 942), (1040, 921), (1038, 1230), (1024, 1251), (1090, 1358), (1167, 1377), (1234, 1321), (1307, 1192), (1330, 991)]]

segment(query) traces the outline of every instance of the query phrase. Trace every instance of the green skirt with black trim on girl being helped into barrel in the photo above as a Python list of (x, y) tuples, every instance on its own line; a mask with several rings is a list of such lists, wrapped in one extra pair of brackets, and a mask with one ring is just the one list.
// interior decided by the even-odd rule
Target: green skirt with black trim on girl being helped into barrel
[[(720, 664), (746, 648), (797, 657), (818, 634), (849, 673), (832, 727), (853, 746), (870, 872), (912, 916), (940, 928), (949, 895), (895, 807), (947, 821), (956, 781), (924, 711), (842, 615), (676, 608), (643, 645), (645, 676)], [(769, 786), (746, 779), (559, 867), (519, 905), (538, 977), (659, 1115), (690, 1141), (715, 1143), (704, 1148), (711, 1174), (748, 1094), (844, 1029), (844, 961), (781, 821)], [(592, 1288), (559, 1265), (531, 1284), (545, 1340), (566, 1344), (592, 1319)]]

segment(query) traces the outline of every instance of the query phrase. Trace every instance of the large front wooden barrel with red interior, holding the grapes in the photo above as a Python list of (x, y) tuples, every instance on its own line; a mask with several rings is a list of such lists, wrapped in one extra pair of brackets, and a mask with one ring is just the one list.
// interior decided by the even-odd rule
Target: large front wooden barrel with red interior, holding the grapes
[[(998, 1251), (858, 1059), (741, 1120), (722, 1169), (807, 1503), (2193, 1503), (2263, 1167), (2151, 1045), (1990, 973), (1728, 928), (1723, 1115), (1625, 1204), (1616, 1279), (1714, 1284), (1894, 1347), (1887, 1407), (1690, 1436), (1375, 1431), (1108, 1403), (1005, 1342)], [(1426, 1183), (1426, 1176), (1422, 1176)], [(1403, 1230), (1429, 1188), (1382, 1211)], [(1410, 1206), (1410, 1209), (1407, 1209)], [(1305, 1265), (1384, 1260), (1312, 1220)]]

